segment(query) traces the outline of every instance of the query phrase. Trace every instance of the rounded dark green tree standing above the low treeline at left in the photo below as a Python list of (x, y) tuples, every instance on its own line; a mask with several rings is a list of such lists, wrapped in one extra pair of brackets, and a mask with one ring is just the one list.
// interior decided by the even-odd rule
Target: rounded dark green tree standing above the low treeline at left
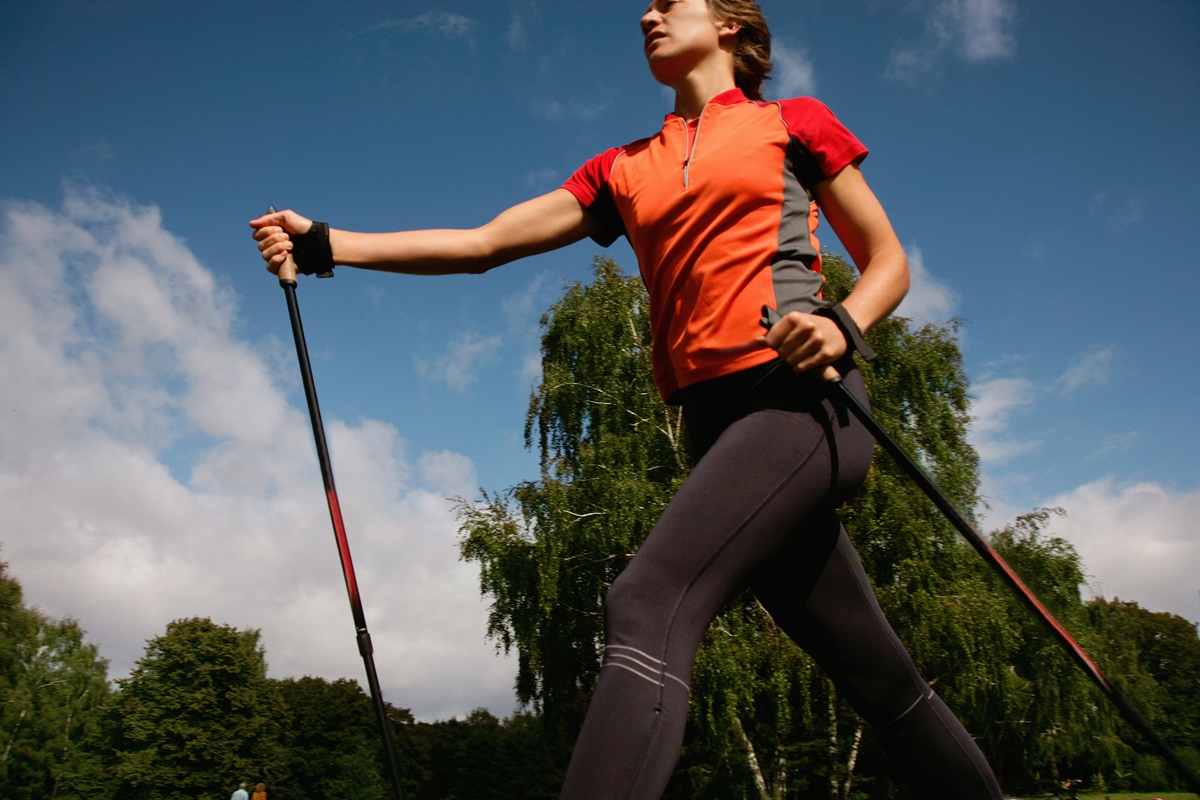
[(120, 796), (194, 798), (283, 777), (284, 705), (258, 631), (176, 620), (118, 684)]

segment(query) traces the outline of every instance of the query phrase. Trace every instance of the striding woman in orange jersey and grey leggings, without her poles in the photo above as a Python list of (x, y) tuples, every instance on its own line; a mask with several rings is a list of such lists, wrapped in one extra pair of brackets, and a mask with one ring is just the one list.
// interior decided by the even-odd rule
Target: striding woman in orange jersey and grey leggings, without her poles
[[(750, 587), (920, 796), (998, 800), (834, 513), (872, 445), (818, 375), (836, 363), (863, 397), (850, 350), (908, 288), (904, 251), (859, 172), (866, 150), (811, 98), (761, 101), (770, 35), (757, 4), (654, 0), (641, 28), (650, 72), (676, 95), (658, 134), (600, 154), (563, 188), (474, 230), (360, 234), (265, 215), (251, 225), (268, 269), (286, 273), (294, 254), (305, 272), (482, 272), (584, 236), (632, 245), (650, 293), (655, 380), (683, 404), (698, 461), (605, 599), (604, 667), (562, 796), (661, 795), (700, 640)], [(812, 201), (862, 272), (838, 307), (820, 296)]]

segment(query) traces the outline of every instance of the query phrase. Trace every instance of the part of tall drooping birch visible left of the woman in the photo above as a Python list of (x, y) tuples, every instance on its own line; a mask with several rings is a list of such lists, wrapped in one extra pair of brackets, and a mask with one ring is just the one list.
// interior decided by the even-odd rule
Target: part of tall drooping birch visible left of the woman
[(683, 480), (677, 408), (650, 375), (646, 290), (611, 259), (544, 317), (526, 444), (541, 475), (460, 503), (464, 559), (491, 596), (488, 634), (516, 649), (516, 693), (566, 739), (600, 669), (608, 584)]

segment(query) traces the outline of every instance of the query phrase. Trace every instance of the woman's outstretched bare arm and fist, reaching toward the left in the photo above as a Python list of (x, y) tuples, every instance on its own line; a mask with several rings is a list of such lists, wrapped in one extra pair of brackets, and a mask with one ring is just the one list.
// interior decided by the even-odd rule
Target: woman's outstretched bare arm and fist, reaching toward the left
[[(266, 269), (278, 273), (292, 252), (289, 234), (306, 233), (312, 221), (294, 211), (251, 221)], [(599, 223), (566, 190), (515, 205), (480, 228), (401, 230), (364, 234), (330, 229), (334, 263), (410, 275), (485, 272), (526, 255), (565, 247), (595, 233)]]

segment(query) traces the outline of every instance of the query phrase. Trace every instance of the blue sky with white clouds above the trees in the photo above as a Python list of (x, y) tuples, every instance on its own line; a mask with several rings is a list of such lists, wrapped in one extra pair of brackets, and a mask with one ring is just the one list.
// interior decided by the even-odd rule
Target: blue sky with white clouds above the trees
[[(1085, 595), (1200, 621), (1200, 5), (766, 0), (914, 285), (959, 320), (983, 528), (1061, 507)], [(174, 619), (275, 678), (362, 663), (287, 306), (247, 221), (474, 227), (671, 110), (642, 2), (0, 0), (0, 559), (121, 678)], [(840, 252), (827, 227), (822, 241)], [(482, 276), (301, 279), (383, 692), (515, 708), (454, 498), (535, 479), (539, 319), (584, 241)], [(914, 489), (916, 491), (916, 489)], [(361, 682), (361, 681), (360, 681)]]

